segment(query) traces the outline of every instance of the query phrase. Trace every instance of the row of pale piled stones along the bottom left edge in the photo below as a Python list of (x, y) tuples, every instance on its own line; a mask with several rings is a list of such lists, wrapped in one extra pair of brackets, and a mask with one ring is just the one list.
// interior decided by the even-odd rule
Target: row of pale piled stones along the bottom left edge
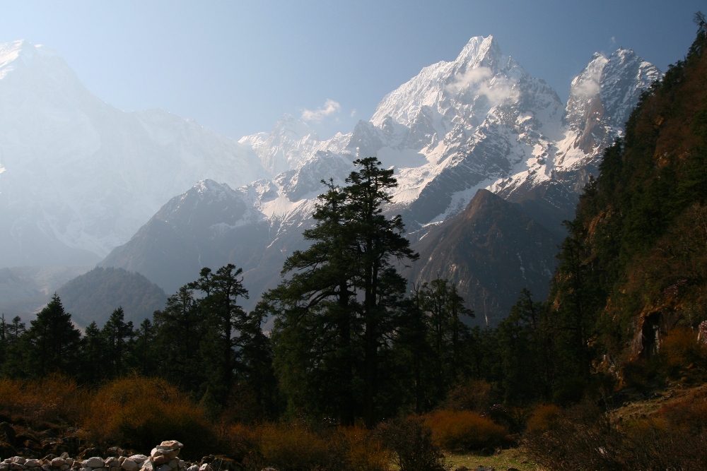
[(119, 449), (112, 448), (115, 456), (93, 456), (80, 459), (70, 458), (69, 453), (47, 455), (45, 458), (25, 458), (14, 456), (0, 463), (0, 471), (222, 471), (230, 468), (229, 460), (204, 457), (200, 463), (190, 463), (179, 458), (182, 443), (163, 441), (152, 449), (149, 456), (122, 456)]

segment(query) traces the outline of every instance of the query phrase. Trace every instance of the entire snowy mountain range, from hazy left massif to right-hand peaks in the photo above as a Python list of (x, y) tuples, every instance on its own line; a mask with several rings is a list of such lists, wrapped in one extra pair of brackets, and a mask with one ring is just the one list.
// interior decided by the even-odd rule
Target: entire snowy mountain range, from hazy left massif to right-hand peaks
[(595, 54), (563, 105), (493, 37), (474, 37), (455, 60), (423, 68), (384, 97), (351, 133), (321, 140), (286, 115), (237, 142), (160, 110), (121, 112), (51, 50), (5, 44), (0, 266), (78, 265), (110, 251), (101, 265), (139, 271), (169, 293), (202, 266), (230, 262), (245, 268), (255, 302), (279, 280), (286, 256), (306, 246), (301, 232), (321, 180), (341, 184), (356, 158), (371, 155), (395, 168), (389, 210), (403, 214), (413, 239), (443, 233), (429, 231), (479, 189), (558, 234), (657, 78), (629, 49)]

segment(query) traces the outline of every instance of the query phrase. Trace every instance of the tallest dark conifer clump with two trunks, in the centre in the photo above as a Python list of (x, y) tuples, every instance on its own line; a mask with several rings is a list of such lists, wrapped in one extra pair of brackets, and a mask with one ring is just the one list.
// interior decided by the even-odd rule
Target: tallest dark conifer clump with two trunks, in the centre
[(416, 254), (402, 237), (401, 217), (382, 214), (397, 185), (392, 170), (381, 169), (375, 157), (354, 164), (359, 170), (346, 179), (349, 186), (327, 184), (315, 212), (317, 225), (305, 232), (312, 246), (288, 258), (283, 273), (295, 273), (266, 299), (274, 304), (276, 360), (292, 381), (291, 400), (302, 397), (297, 384), (329, 394), (327, 405), (349, 424), (358, 381), (363, 417), (373, 427), (380, 354), (399, 324), (406, 285), (393, 263)]

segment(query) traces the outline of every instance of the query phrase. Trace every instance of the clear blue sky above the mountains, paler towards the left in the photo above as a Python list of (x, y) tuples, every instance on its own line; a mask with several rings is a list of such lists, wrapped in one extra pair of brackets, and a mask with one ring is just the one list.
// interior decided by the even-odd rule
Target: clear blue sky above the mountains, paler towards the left
[[(703, 1), (16, 1), (0, 42), (56, 49), (95, 95), (160, 107), (226, 136), (269, 131), (284, 113), (348, 132), (423, 66), (470, 37), (566, 100), (593, 52), (635, 50), (665, 71), (694, 39)], [(327, 102), (327, 100), (330, 100)], [(317, 113), (317, 110), (329, 113)], [(308, 114), (307, 111), (310, 111)]]

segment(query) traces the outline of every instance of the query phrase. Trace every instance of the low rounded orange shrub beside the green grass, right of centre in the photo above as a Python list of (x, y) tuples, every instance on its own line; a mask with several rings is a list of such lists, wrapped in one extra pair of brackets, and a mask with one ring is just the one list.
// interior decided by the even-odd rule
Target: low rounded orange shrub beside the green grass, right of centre
[(501, 446), (506, 429), (491, 419), (469, 412), (440, 410), (425, 419), (439, 446), (450, 451), (472, 451)]

